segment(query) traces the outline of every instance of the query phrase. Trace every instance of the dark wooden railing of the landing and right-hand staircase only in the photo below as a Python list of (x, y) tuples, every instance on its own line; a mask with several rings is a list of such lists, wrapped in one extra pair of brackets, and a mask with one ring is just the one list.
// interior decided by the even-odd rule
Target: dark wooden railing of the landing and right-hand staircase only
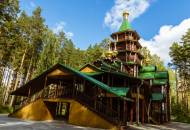
[(73, 98), (82, 105), (86, 106), (88, 109), (98, 113), (103, 118), (106, 118), (115, 124), (118, 124), (119, 122), (119, 115), (117, 111), (111, 109), (101, 101), (98, 101), (97, 99), (80, 92), (76, 88), (67, 88), (62, 91), (62, 93), (57, 95), (52, 92), (51, 94), (46, 95), (44, 98)]

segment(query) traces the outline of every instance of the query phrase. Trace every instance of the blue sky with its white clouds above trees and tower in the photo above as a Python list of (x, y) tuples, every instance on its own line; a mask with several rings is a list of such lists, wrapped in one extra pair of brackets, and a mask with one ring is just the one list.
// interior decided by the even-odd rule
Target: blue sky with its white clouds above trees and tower
[(190, 0), (20, 0), (28, 14), (37, 6), (49, 28), (63, 29), (81, 49), (117, 31), (128, 10), (141, 44), (166, 62), (171, 43), (190, 28)]

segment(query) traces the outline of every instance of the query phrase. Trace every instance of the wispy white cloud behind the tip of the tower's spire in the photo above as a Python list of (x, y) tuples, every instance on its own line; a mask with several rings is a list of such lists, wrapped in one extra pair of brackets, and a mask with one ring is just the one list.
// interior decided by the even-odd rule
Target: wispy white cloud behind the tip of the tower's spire
[(106, 13), (104, 24), (112, 31), (119, 28), (123, 11), (129, 12), (129, 21), (133, 21), (144, 13), (150, 6), (151, 0), (115, 0), (115, 5)]

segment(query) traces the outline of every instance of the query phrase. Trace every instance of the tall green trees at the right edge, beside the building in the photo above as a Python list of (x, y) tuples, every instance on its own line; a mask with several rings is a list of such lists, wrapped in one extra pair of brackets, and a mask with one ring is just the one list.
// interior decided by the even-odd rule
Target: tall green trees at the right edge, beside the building
[[(171, 65), (175, 67), (178, 74), (178, 86), (176, 87), (176, 99), (178, 104), (172, 103), (172, 114), (176, 121), (190, 123), (188, 108), (188, 94), (190, 90), (190, 29), (182, 36), (181, 42), (174, 42), (170, 47)], [(182, 98), (179, 98), (179, 95)]]

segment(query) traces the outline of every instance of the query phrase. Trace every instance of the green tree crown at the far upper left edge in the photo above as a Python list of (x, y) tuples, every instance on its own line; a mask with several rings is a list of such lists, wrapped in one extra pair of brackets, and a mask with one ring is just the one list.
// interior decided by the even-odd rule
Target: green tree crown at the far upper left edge
[(16, 26), (18, 12), (18, 0), (0, 2), (0, 59), (4, 60), (4, 64), (13, 59), (12, 56), (18, 38)]

